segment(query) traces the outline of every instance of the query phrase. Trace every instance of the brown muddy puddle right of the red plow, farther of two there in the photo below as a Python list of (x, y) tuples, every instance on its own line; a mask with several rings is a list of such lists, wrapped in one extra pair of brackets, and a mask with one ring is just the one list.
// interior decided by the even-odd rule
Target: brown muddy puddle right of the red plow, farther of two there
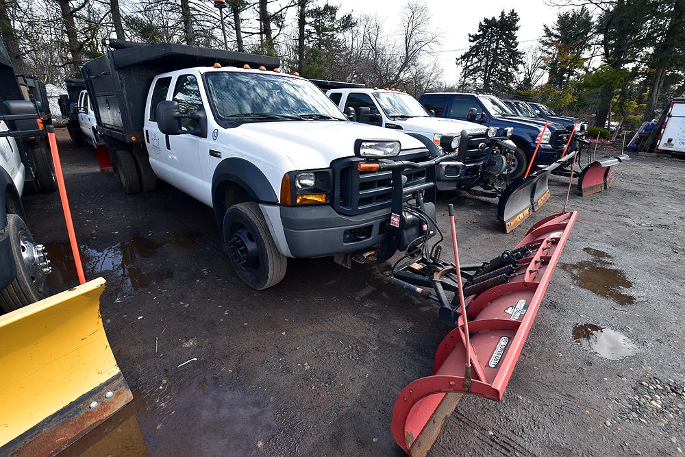
[(591, 247), (586, 247), (583, 251), (593, 258), (576, 264), (561, 264), (562, 269), (571, 273), (575, 284), (623, 306), (634, 304), (635, 297), (625, 292), (632, 288), (633, 283), (625, 277), (623, 271), (614, 267), (611, 254)]

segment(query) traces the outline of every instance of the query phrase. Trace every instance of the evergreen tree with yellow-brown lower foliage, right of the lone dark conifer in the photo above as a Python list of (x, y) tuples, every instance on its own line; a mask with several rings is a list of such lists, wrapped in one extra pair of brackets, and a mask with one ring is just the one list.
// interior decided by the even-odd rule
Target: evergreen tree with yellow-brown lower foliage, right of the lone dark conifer
[(540, 44), (549, 74), (548, 83), (564, 88), (583, 69), (588, 42), (593, 38), (593, 16), (586, 7), (560, 12), (551, 27), (544, 26)]

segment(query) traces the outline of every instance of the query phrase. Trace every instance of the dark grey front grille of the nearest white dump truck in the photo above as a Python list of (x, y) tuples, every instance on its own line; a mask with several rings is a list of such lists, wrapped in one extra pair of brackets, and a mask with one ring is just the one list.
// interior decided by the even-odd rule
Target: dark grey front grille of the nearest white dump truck
[[(400, 160), (423, 162), (428, 158), (427, 149), (416, 149), (409, 153), (402, 153)], [(345, 158), (332, 163), (334, 193), (332, 204), (334, 210), (341, 214), (353, 216), (390, 208), (393, 197), (393, 179), (391, 171), (377, 171), (374, 173), (359, 173), (358, 158)], [(408, 169), (403, 175), (407, 180), (404, 188), (410, 188), (426, 182), (427, 171)]]

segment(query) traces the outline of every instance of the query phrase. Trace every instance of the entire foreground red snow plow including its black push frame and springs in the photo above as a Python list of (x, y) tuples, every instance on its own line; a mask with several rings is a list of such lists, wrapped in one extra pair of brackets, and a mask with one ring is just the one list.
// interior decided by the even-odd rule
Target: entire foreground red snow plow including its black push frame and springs
[[(436, 166), (456, 154), (420, 163), (358, 162), (360, 173), (391, 172), (393, 199), (386, 241), (354, 259), (379, 262), (386, 282), (434, 301), (440, 320), (454, 327), (438, 346), (432, 375), (410, 383), (395, 401), (391, 432), (412, 456), (427, 454), (463, 395), (501, 400), (578, 217), (564, 207), (564, 212), (534, 224), (514, 249), (489, 262), (460, 264), (449, 205), (455, 261), (442, 260), (445, 236), (423, 202), (434, 184), (403, 188), (402, 175), (406, 169)], [(575, 162), (575, 153), (569, 156)], [(429, 247), (434, 236), (438, 240)], [(386, 262), (397, 251), (403, 252), (399, 260)]]

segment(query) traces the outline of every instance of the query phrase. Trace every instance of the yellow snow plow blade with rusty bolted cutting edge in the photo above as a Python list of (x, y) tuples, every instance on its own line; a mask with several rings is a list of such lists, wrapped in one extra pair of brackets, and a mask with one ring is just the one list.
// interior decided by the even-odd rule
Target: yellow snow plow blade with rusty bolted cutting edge
[(105, 284), (0, 316), (0, 455), (56, 454), (132, 400), (102, 325)]

